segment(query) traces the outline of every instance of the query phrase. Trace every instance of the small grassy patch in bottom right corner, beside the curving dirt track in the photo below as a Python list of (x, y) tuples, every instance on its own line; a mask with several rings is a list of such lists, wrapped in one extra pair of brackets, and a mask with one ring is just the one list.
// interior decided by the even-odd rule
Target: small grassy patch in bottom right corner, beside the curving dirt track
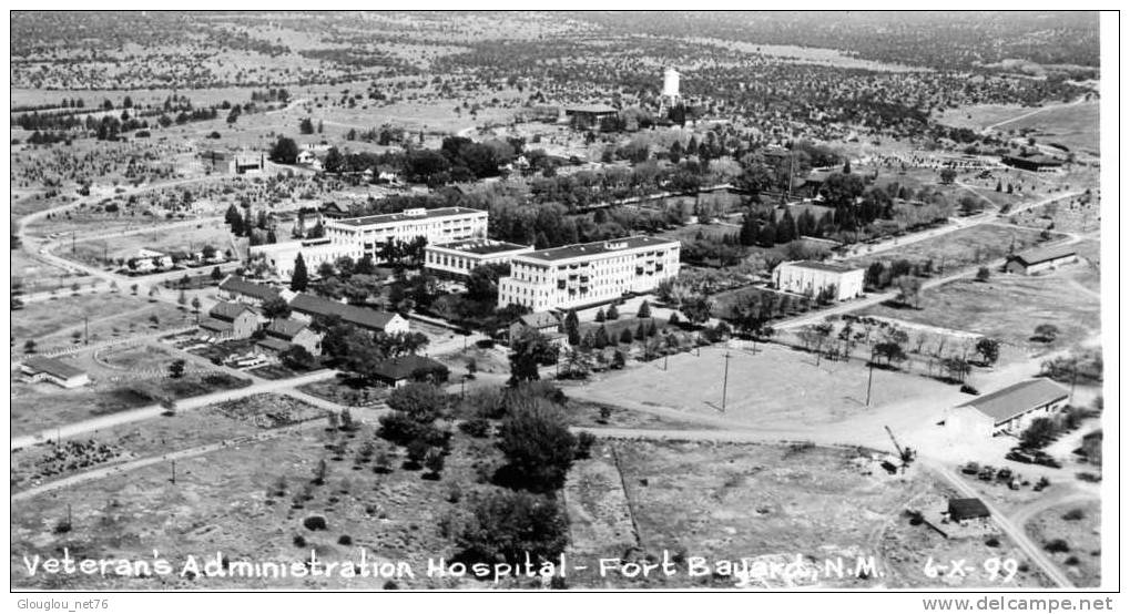
[(1076, 586), (1097, 587), (1102, 581), (1101, 527), (1101, 505), (1092, 500), (1049, 508), (1028, 520), (1024, 529), (1044, 550), (1054, 541), (1063, 540), (1067, 551), (1054, 552), (1052, 560)]

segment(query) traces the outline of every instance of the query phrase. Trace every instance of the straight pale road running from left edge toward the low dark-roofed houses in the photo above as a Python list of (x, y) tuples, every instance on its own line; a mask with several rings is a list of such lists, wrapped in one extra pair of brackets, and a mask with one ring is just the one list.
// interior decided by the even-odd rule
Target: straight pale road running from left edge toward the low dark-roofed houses
[[(246, 376), (246, 374), (243, 374)], [(315, 371), (313, 374), (307, 374), (298, 377), (292, 377), (288, 379), (276, 379), (276, 380), (261, 380), (258, 384), (252, 384), (251, 386), (245, 386), (243, 388), (236, 388), (233, 391), (220, 391), (217, 393), (205, 394), (200, 396), (191, 396), (189, 398), (182, 398), (176, 401), (176, 411), (194, 410), (202, 407), (205, 405), (211, 405), (214, 403), (224, 403), (227, 401), (235, 401), (238, 398), (244, 398), (247, 396), (264, 394), (264, 393), (277, 393), (286, 394), (288, 388), (295, 386), (302, 386), (304, 384), (310, 384), (312, 381), (321, 381), (323, 379), (331, 379), (337, 377), (337, 371), (325, 369), (321, 371)], [(54, 429), (45, 429), (34, 435), (25, 435), (20, 437), (15, 437), (11, 440), (11, 448), (25, 448), (40, 444), (46, 440), (53, 440), (55, 438), (66, 439), (69, 437), (75, 437), (77, 435), (84, 435), (99, 429), (108, 429), (111, 427), (119, 427), (121, 424), (129, 424), (131, 422), (138, 422), (141, 420), (151, 420), (157, 418), (166, 410), (160, 405), (147, 405), (145, 407), (138, 407), (136, 410), (130, 410), (125, 412), (118, 412), (107, 415), (102, 415), (98, 418), (93, 418), (90, 420), (84, 420), (81, 422), (72, 422), (63, 427)]]

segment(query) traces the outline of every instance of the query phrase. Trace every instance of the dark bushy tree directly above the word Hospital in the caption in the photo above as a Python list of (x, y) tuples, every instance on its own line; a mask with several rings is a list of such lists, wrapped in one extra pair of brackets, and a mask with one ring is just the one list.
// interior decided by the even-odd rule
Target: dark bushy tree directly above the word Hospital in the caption
[(568, 544), (568, 520), (559, 503), (528, 492), (490, 491), (476, 498), (471, 519), (455, 537), (466, 563), (512, 565), (554, 561)]

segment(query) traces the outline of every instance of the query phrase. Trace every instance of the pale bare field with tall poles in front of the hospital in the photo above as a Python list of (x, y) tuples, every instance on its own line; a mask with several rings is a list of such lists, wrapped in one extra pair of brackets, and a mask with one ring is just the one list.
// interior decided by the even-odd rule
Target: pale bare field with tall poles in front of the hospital
[[(757, 426), (835, 423), (868, 412), (867, 367), (854, 361), (822, 361), (807, 352), (758, 344), (757, 353), (730, 350), (725, 411), (721, 411), (724, 348), (672, 354), (668, 370), (645, 365), (610, 371), (589, 385), (608, 397), (676, 409), (688, 414), (722, 415)], [(661, 361), (660, 361), (661, 362)], [(875, 406), (925, 396), (948, 387), (931, 379), (876, 370)]]

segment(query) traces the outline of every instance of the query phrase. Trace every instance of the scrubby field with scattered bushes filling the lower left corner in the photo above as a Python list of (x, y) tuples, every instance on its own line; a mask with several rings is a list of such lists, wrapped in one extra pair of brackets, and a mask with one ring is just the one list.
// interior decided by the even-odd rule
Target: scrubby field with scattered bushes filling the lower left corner
[[(157, 464), (128, 475), (111, 475), (61, 494), (14, 503), (11, 551), (14, 586), (71, 589), (219, 589), (219, 588), (445, 588), (455, 579), (421, 578), (432, 556), (451, 556), (441, 519), (455, 508), (452, 493), (492, 488), (476, 484), (476, 466), (498, 457), (488, 440), (457, 435), (441, 480), (401, 467), (403, 450), (376, 440), (377, 455), (391, 458), (390, 473), (377, 473), (371, 460), (357, 458), (373, 430), (356, 432), (310, 429), (280, 438), (227, 447), (177, 463), (176, 483), (169, 467)], [(344, 448), (331, 453), (328, 445)], [(328, 465), (324, 485), (311, 483), (320, 459)], [(457, 485), (458, 484), (458, 485)], [(52, 527), (73, 508), (73, 530)], [(304, 519), (324, 516), (328, 529), (311, 530)], [(342, 538), (346, 536), (346, 538)], [(301, 543), (297, 540), (302, 540)], [(148, 578), (108, 574), (28, 577), (23, 556), (52, 555), (68, 547), (72, 556), (149, 559), (156, 549), (175, 572)], [(370, 562), (407, 561), (415, 578), (250, 579), (180, 576), (189, 555), (200, 564), (221, 551), (231, 561), (273, 561), (288, 565), (308, 560)], [(386, 582), (392, 580), (391, 586)], [(463, 582), (468, 582), (463, 580)], [(463, 586), (480, 587), (476, 582)], [(506, 586), (506, 585), (503, 585)]]

